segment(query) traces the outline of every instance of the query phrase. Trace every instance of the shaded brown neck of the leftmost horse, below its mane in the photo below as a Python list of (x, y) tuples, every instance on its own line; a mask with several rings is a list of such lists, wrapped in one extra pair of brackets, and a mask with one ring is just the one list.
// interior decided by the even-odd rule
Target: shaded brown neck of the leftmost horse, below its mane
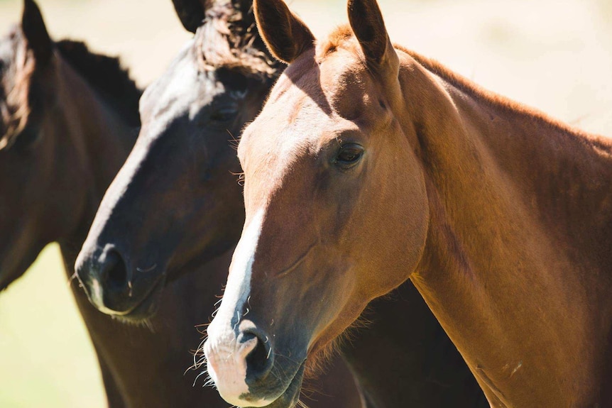
[(104, 192), (127, 158), (137, 130), (67, 62), (58, 60), (58, 114), (68, 129), (66, 143), (72, 149), (70, 160), (75, 162), (74, 171), (79, 172), (76, 184), (82, 190), (82, 207), (74, 214), (75, 228), (58, 240), (70, 272)]

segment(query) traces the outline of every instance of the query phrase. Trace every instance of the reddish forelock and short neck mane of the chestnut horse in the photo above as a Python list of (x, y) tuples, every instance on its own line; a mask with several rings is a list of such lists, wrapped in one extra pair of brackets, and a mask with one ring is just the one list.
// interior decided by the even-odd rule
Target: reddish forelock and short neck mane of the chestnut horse
[[(351, 42), (351, 45), (346, 44), (349, 43), (349, 41)], [(324, 42), (321, 43), (320, 47), (317, 49), (317, 60), (320, 61), (330, 53), (334, 53), (334, 51), (340, 46), (344, 46), (345, 48), (352, 46), (355, 52), (361, 53), (361, 48), (359, 47), (356, 38), (354, 37), (354, 33), (351, 30), (351, 27), (347, 24), (336, 28), (324, 40)], [(555, 118), (552, 118), (551, 116), (545, 114), (544, 112), (538, 109), (526, 106), (524, 104), (520, 104), (519, 102), (513, 101), (508, 97), (504, 97), (500, 94), (496, 94), (496, 92), (489, 91), (488, 89), (481, 87), (479, 84), (476, 84), (474, 81), (471, 81), (470, 79), (459, 75), (457, 72), (450, 70), (448, 67), (442, 65), (442, 63), (438, 62), (437, 60), (424, 57), (423, 55), (420, 55), (415, 51), (405, 48), (403, 45), (394, 43), (393, 48), (409, 55), (419, 65), (424, 67), (425, 70), (432, 72), (432, 74), (444, 79), (445, 82), (448, 82), (453, 87), (459, 89), (459, 91), (469, 95), (470, 97), (474, 97), (474, 99), (478, 101), (483, 101), (489, 106), (501, 108), (503, 111), (506, 111), (510, 114), (520, 114), (524, 116), (529, 116), (530, 118), (532, 118), (532, 120), (543, 123), (549, 128), (560, 130), (567, 136), (579, 137), (581, 140), (585, 140), (586, 143), (589, 143), (598, 150), (606, 150), (608, 152), (612, 152), (612, 147), (610, 143), (604, 140), (603, 138), (594, 137), (589, 133), (581, 131), (578, 128), (569, 126), (563, 121), (559, 121)]]

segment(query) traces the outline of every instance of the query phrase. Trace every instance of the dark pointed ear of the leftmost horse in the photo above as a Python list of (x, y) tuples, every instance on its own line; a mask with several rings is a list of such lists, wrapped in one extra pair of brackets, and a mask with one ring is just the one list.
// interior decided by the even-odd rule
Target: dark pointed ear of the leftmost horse
[(48, 62), (53, 55), (53, 41), (45, 27), (43, 15), (33, 0), (23, 1), (21, 30), (28, 41), (28, 48), (34, 53), (35, 60), (43, 64)]

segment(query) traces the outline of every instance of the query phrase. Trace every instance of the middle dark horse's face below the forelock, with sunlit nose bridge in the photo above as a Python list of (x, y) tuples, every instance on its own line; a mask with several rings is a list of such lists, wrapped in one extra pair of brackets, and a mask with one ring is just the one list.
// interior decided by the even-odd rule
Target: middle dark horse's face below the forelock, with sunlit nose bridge
[(244, 75), (202, 69), (195, 40), (148, 87), (141, 133), (77, 260), (98, 309), (146, 318), (175, 271), (234, 246), (244, 210), (232, 139), (265, 91)]

